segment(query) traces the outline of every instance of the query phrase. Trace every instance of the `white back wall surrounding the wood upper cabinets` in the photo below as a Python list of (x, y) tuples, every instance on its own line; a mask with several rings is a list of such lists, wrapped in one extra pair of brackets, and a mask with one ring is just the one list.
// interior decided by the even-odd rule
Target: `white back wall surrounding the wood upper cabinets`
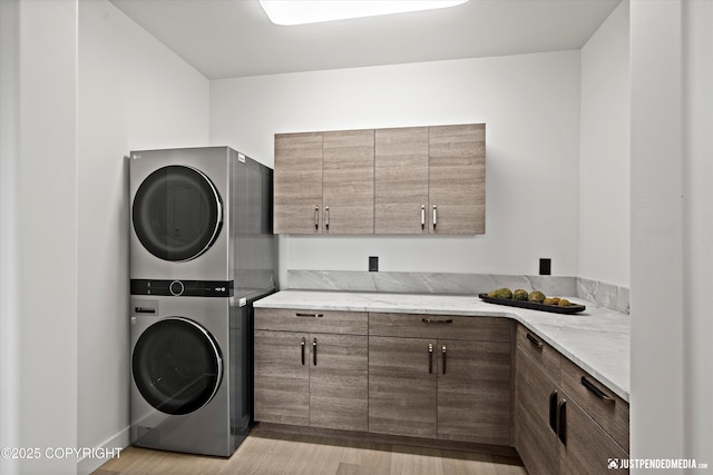
[(280, 270), (578, 270), (579, 51), (211, 82), (211, 142), (273, 164), (276, 132), (486, 122), (486, 234), (281, 237)]

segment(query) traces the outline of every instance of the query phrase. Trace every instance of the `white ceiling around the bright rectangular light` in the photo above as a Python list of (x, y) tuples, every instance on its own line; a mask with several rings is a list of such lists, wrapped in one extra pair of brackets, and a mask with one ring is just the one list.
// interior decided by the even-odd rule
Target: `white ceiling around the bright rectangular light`
[(257, 0), (110, 0), (208, 79), (578, 49), (621, 0), (470, 0), (280, 27)]

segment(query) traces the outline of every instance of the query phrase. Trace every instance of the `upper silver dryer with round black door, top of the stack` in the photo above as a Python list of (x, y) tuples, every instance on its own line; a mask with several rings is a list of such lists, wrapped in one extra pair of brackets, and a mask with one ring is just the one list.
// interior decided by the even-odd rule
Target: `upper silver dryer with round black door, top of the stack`
[(212, 281), (224, 297), (274, 287), (272, 169), (229, 147), (129, 157), (133, 294), (156, 280), (179, 294)]

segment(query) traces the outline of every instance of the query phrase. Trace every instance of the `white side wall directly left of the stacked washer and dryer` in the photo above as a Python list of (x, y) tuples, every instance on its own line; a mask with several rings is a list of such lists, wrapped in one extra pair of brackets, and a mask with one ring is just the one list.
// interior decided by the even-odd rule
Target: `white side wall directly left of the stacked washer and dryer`
[[(147, 148), (208, 144), (208, 80), (105, 0), (79, 1), (78, 447), (129, 423), (128, 168)], [(86, 459), (79, 473), (102, 461)]]

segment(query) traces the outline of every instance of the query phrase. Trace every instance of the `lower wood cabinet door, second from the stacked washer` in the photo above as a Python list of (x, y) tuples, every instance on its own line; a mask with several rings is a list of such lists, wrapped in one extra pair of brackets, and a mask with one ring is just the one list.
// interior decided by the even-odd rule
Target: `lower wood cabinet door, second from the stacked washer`
[(310, 426), (367, 432), (367, 336), (310, 335)]

